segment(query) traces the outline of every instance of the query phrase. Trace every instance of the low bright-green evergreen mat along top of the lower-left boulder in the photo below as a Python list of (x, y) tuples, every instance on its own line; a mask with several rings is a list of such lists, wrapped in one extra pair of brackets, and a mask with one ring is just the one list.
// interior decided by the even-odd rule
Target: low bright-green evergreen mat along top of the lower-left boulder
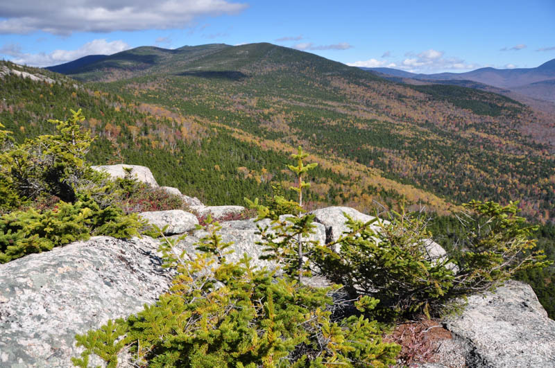
[(0, 216), (0, 263), (86, 240), (91, 235), (130, 238), (145, 227), (136, 215), (125, 215), (118, 207), (101, 209), (87, 195), (78, 194), (75, 203), (60, 201), (54, 209), (42, 213), (31, 208)]

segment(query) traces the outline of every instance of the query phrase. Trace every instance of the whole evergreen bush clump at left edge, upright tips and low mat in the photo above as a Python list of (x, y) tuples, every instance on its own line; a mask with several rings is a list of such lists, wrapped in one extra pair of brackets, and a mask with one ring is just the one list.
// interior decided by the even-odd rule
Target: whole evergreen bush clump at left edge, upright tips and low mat
[(123, 209), (142, 196), (159, 206), (182, 206), (180, 198), (135, 178), (113, 182), (92, 170), (85, 155), (93, 139), (80, 130), (81, 111), (71, 114), (68, 121), (50, 121), (58, 134), (19, 145), (0, 125), (0, 263), (91, 235), (137, 236), (145, 223)]

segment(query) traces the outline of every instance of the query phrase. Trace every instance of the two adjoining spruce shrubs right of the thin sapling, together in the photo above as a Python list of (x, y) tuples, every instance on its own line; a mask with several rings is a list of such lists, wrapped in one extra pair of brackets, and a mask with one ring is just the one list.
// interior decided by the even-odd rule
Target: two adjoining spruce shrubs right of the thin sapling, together
[[(534, 250), (533, 227), (523, 226), (515, 204), (474, 201), (466, 207), (466, 249), (457, 256), (434, 252), (424, 218), (393, 213), (390, 222), (348, 218), (350, 231), (318, 247), (314, 260), (351, 297), (379, 299), (373, 314), (385, 319), (438, 315), (455, 298), (493, 290), (517, 272), (549, 265)], [(340, 245), (339, 253), (334, 245)]]

